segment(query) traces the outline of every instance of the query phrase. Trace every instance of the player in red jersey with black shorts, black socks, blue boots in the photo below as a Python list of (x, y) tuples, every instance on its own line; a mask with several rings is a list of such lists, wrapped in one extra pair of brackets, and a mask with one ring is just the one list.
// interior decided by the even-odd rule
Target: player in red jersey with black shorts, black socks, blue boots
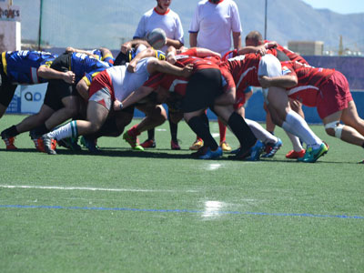
[[(200, 148), (196, 154), (200, 159), (222, 156), (221, 147), (218, 147), (206, 122), (201, 118), (205, 109), (212, 107), (217, 116), (227, 121), (228, 126), (238, 137), (242, 147), (241, 154), (244, 153), (245, 157), (250, 155), (250, 160), (257, 160), (261, 152), (261, 147), (255, 146), (257, 138), (252, 134), (244, 118), (232, 108), (235, 102), (235, 85), (231, 76), (226, 71), (220, 71), (217, 65), (201, 58), (183, 55), (176, 58), (177, 66), (194, 65), (192, 76), (188, 79), (164, 74), (152, 76), (144, 86), (126, 97), (122, 105), (133, 105), (153, 90), (158, 90), (159, 94), (169, 91), (182, 96), (181, 110), (184, 118), (188, 126), (204, 140), (205, 147)], [(114, 108), (119, 108), (119, 102), (116, 101)], [(140, 134), (140, 130), (141, 128), (138, 128), (134, 133)]]

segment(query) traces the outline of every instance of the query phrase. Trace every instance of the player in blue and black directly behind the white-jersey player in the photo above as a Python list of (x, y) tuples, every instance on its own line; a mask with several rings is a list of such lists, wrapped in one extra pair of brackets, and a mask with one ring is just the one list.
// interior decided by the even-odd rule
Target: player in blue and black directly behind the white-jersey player
[(59, 79), (49, 80), (40, 111), (33, 116), (27, 116), (21, 123), (3, 131), (3, 139), (9, 139), (32, 130), (30, 135), (35, 147), (43, 151), (41, 136), (78, 114), (79, 95), (76, 91), (76, 84), (81, 79), (90, 83), (93, 76), (110, 66), (108, 63), (82, 53), (66, 53), (58, 56), (50, 67), (56, 71), (75, 75), (74, 82), (68, 83)]

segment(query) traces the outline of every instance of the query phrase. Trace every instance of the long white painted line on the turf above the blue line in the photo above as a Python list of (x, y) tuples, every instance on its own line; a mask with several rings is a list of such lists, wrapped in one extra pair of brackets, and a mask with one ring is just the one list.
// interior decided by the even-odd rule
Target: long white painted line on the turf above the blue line
[[(113, 191), (113, 192), (176, 192), (168, 189), (142, 189), (142, 188), (106, 188), (106, 187), (58, 187), (58, 186), (26, 186), (26, 185), (0, 185), (5, 188), (35, 188), (35, 189), (59, 189), (59, 190), (90, 190), (90, 191)], [(197, 192), (197, 190), (186, 190), (185, 192)]]

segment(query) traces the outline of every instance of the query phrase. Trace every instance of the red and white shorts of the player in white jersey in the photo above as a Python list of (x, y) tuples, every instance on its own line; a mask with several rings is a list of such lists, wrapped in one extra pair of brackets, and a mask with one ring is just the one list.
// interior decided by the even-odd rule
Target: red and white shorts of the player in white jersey
[(96, 101), (110, 110), (115, 95), (112, 80), (106, 70), (94, 77), (88, 89), (88, 100)]

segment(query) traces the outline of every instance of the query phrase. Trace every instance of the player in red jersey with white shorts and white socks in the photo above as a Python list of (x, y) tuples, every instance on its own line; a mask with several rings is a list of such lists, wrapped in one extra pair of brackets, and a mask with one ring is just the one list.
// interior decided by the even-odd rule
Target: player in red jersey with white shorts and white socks
[[(237, 86), (237, 94), (244, 92), (247, 86), (261, 86), (260, 80), (263, 76), (281, 76), (281, 66), (278, 59), (269, 54), (265, 56), (256, 54), (236, 56), (228, 59), (220, 67), (227, 69), (233, 76)], [(298, 136), (308, 145), (309, 150), (314, 151), (314, 159), (305, 162), (315, 162), (324, 153), (327, 153), (328, 147), (312, 132), (307, 122), (291, 110), (285, 89), (281, 87), (269, 88), (268, 102), (269, 112), (280, 117), (276, 124)]]

